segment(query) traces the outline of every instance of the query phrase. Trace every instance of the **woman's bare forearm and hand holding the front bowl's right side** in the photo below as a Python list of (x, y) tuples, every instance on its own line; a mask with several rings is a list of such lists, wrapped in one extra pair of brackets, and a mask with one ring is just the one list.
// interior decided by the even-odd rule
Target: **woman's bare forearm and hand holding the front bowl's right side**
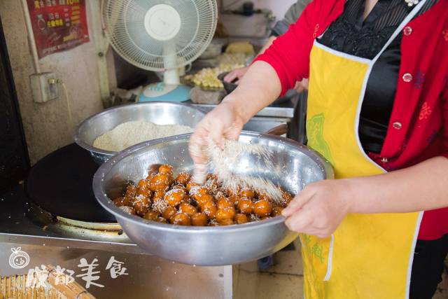
[(377, 176), (312, 183), (283, 216), (291, 230), (328, 237), (349, 213), (407, 213), (448, 207), (448, 159), (436, 157)]

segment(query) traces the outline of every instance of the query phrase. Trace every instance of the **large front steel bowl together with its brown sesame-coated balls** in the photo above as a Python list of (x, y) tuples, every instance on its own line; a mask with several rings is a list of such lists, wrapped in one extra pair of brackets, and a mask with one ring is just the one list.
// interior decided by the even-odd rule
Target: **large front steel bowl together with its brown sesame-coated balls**
[(297, 237), (279, 216), (290, 199), (313, 181), (333, 177), (318, 153), (290, 139), (242, 132), (245, 144), (265, 146), (270, 165), (241, 155), (232, 165), (241, 176), (258, 176), (279, 188), (283, 202), (257, 188), (226, 190), (214, 169), (207, 181), (191, 180), (190, 134), (132, 146), (99, 167), (94, 194), (123, 231), (156, 256), (190, 265), (230, 265), (268, 256)]

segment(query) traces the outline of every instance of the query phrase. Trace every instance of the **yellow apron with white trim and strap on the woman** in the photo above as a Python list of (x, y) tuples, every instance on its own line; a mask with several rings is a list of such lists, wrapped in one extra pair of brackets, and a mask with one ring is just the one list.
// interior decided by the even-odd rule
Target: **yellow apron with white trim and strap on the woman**
[[(314, 42), (307, 111), (308, 145), (332, 164), (336, 179), (385, 172), (368, 158), (360, 145), (360, 108), (372, 65), (424, 2), (409, 13), (373, 60)], [(349, 214), (331, 237), (300, 235), (305, 298), (408, 298), (422, 214)]]

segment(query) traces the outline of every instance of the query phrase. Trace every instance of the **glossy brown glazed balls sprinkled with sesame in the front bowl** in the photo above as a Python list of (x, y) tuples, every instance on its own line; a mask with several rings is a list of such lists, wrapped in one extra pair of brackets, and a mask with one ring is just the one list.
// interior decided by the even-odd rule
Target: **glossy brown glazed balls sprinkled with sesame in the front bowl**
[(262, 190), (241, 188), (224, 190), (214, 174), (207, 174), (204, 185), (192, 181), (190, 174), (174, 176), (171, 165), (161, 165), (141, 179), (130, 183), (113, 200), (123, 211), (148, 221), (176, 225), (216, 226), (243, 224), (279, 216), (293, 195), (283, 188), (279, 204)]

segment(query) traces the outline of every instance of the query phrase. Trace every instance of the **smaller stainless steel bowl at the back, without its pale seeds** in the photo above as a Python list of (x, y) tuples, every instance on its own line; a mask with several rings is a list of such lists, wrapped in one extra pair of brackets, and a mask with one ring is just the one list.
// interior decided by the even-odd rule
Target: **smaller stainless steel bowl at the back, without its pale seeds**
[(78, 146), (90, 151), (93, 160), (102, 164), (115, 151), (94, 148), (93, 141), (102, 134), (128, 121), (146, 120), (156, 125), (187, 125), (195, 127), (205, 113), (188, 104), (173, 102), (147, 102), (113, 107), (91, 116), (76, 128), (74, 139)]

